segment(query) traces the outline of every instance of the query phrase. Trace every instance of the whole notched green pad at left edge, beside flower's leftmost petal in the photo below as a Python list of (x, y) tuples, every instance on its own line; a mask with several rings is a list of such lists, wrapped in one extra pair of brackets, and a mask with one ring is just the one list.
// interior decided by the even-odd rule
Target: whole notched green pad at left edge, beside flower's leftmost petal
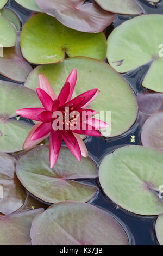
[(39, 106), (36, 92), (16, 83), (0, 81), (0, 151), (15, 152), (22, 150), (32, 125), (15, 117), (15, 111), (25, 107)]

